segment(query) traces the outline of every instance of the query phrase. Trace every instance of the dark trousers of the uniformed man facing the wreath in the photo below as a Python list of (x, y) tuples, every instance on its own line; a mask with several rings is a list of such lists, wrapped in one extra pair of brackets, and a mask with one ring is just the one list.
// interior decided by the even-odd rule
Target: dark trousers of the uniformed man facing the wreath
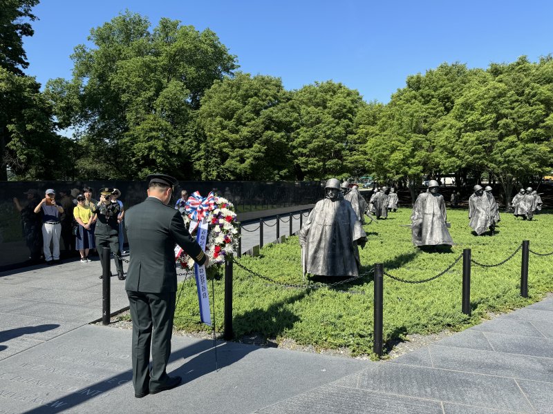
[(169, 380), (166, 369), (171, 355), (176, 292), (144, 293), (127, 290), (126, 295), (129, 297), (133, 319), (134, 392), (143, 394), (164, 386)]

